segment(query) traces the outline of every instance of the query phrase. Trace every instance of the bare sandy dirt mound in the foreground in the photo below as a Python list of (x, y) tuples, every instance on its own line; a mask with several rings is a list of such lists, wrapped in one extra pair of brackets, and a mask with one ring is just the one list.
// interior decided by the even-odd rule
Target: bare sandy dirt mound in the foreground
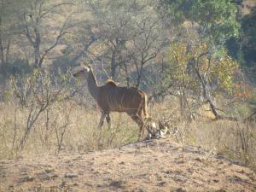
[(0, 191), (256, 191), (247, 167), (156, 139), (84, 154), (0, 161)]

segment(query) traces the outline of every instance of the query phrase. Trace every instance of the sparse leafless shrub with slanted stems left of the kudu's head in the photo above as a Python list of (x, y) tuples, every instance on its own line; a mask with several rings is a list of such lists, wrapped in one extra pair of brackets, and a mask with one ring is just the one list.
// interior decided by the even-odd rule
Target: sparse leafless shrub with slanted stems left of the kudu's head
[(24, 130), (17, 149), (24, 149), (27, 138), (35, 129), (38, 119), (44, 112), (48, 115), (50, 106), (55, 102), (63, 102), (66, 97), (71, 96), (68, 86), (70, 80), (68, 73), (61, 73), (55, 77), (55, 74), (45, 73), (40, 69), (33, 70), (32, 74), (27, 76), (10, 79), (13, 96), (18, 99), (26, 115)]

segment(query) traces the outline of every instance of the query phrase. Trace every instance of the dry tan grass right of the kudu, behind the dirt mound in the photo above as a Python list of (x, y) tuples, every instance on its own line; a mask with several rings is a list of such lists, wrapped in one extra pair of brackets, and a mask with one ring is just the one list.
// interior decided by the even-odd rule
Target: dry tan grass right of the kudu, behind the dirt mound
[(198, 146), (212, 154), (222, 154), (230, 160), (247, 165), (256, 171), (256, 123), (230, 120), (214, 120), (205, 107), (192, 122), (184, 122), (178, 113), (177, 101), (172, 98), (151, 108), (157, 119), (170, 119), (170, 125), (178, 132), (173, 140), (177, 143)]

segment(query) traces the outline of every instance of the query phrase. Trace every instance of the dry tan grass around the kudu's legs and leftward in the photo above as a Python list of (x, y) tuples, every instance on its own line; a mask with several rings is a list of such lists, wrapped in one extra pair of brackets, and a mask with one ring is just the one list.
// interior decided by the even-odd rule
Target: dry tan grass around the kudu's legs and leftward
[(125, 114), (113, 113), (113, 134), (105, 124), (100, 138), (100, 131), (96, 128), (100, 119), (99, 111), (86, 110), (74, 102), (65, 102), (51, 106), (48, 118), (46, 111), (41, 114), (27, 138), (25, 148), (20, 150), (18, 145), (29, 112), (11, 103), (2, 103), (0, 110), (1, 159), (56, 154), (62, 133), (61, 151), (68, 152), (114, 148), (137, 139), (137, 125)]

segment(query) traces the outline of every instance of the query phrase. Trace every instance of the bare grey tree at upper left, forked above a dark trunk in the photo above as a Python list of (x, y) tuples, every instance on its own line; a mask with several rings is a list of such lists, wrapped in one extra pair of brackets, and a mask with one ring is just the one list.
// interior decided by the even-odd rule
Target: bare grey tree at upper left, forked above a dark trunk
[[(52, 16), (58, 15), (61, 17), (61, 11), (65, 6), (70, 6), (72, 3), (50, 3), (50, 1), (34, 0), (25, 10), (22, 15), (22, 23), (24, 27), (24, 34), (32, 45), (34, 66), (41, 68), (46, 55), (49, 51), (54, 49), (60, 42), (60, 39), (67, 34), (68, 21), (72, 13), (68, 14), (66, 18), (61, 22), (61, 26), (55, 24), (55, 28), (51, 29), (57, 34), (51, 44), (44, 44), (44, 38), (49, 35), (50, 26), (47, 25), (49, 18), (52, 20)], [(48, 28), (49, 27), (49, 28)], [(51, 31), (52, 32), (52, 31)], [(44, 50), (42, 48), (44, 47)]]

